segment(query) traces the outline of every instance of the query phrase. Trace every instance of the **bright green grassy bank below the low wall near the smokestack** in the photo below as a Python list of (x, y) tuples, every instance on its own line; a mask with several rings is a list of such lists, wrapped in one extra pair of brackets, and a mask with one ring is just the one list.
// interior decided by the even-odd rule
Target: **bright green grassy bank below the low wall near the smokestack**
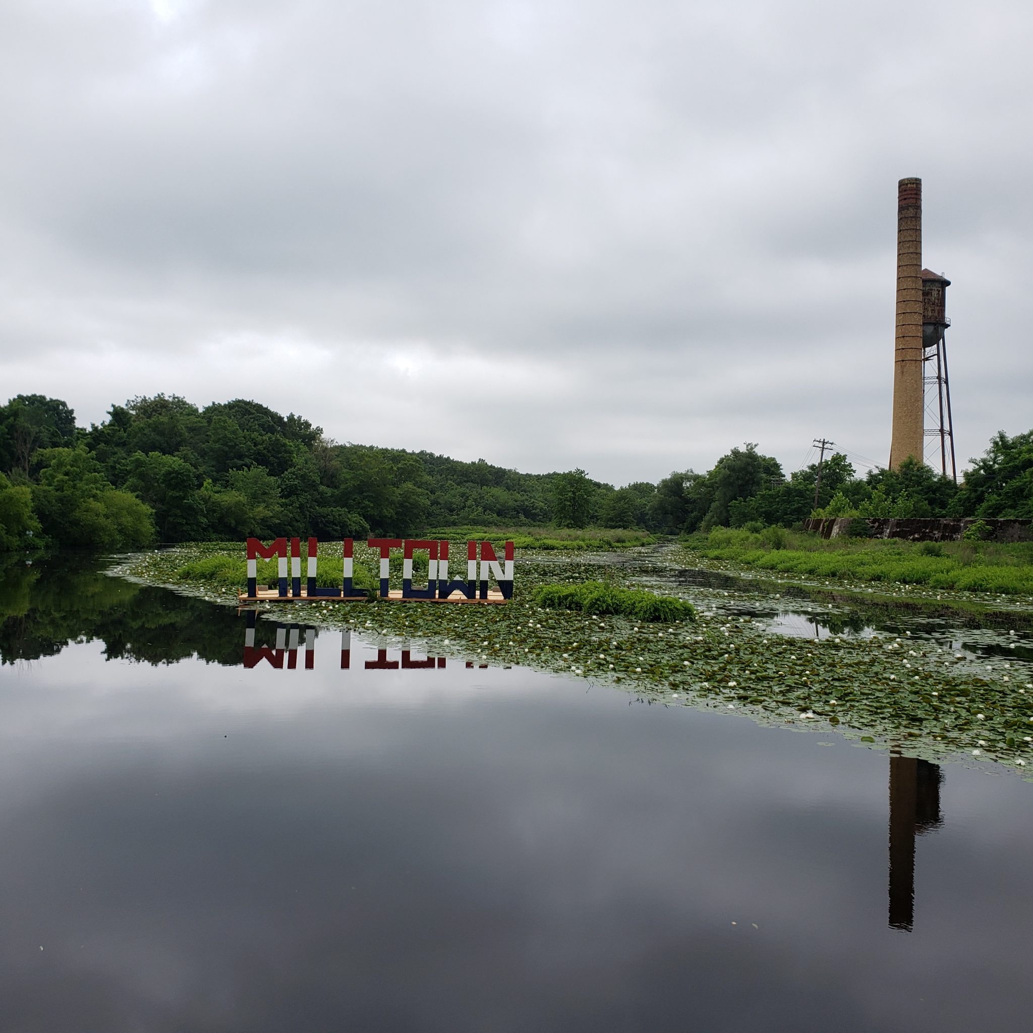
[(909, 542), (832, 538), (770, 528), (760, 533), (716, 528), (686, 538), (687, 559), (701, 556), (783, 576), (920, 585), (930, 589), (1033, 594), (1033, 542)]

